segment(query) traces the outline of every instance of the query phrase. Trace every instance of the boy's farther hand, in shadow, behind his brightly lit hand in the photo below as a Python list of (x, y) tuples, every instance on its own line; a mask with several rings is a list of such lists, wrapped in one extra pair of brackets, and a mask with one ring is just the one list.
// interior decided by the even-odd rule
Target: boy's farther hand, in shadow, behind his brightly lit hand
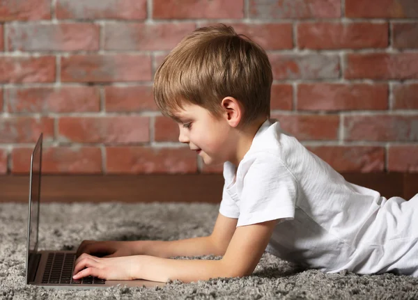
[(129, 241), (89, 241), (84, 240), (77, 249), (77, 258), (82, 253), (103, 256), (104, 258), (116, 258), (119, 256), (134, 255), (132, 242)]

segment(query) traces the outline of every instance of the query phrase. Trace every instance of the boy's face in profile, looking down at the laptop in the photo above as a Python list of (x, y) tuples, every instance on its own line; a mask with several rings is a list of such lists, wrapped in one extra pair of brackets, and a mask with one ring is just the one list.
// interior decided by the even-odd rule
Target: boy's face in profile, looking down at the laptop
[(233, 154), (231, 126), (224, 118), (212, 114), (195, 104), (185, 104), (176, 113), (180, 135), (178, 141), (187, 143), (205, 164), (223, 164)]

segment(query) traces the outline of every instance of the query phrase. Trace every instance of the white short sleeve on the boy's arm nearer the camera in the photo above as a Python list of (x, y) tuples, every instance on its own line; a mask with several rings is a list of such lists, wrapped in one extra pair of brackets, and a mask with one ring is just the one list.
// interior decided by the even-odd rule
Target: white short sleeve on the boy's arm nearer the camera
[(294, 219), (297, 182), (274, 156), (258, 157), (242, 179), (238, 226)]

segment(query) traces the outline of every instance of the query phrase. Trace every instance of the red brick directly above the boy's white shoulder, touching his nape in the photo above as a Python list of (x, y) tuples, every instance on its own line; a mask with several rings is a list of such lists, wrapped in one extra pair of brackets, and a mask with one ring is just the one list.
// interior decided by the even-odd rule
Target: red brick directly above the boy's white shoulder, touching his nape
[(272, 113), (285, 132), (302, 140), (336, 140), (339, 132), (339, 116), (281, 115)]

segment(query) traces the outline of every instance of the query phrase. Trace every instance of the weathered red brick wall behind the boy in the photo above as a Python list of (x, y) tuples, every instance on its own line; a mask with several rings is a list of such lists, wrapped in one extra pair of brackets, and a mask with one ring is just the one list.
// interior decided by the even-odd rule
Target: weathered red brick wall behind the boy
[[(183, 3), (183, 4), (182, 4)], [(162, 58), (233, 24), (274, 73), (272, 117), (337, 171), (418, 171), (418, 1), (0, 2), (0, 173), (204, 173), (156, 110)]]

